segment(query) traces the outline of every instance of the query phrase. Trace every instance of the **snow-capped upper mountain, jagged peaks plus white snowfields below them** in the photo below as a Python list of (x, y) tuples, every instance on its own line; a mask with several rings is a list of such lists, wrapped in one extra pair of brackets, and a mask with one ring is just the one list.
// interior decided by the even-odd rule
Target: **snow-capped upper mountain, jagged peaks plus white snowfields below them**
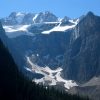
[[(1, 22), (5, 28), (6, 35), (9, 38), (15, 38), (20, 35), (30, 35), (29, 29), (36, 30), (35, 34), (71, 30), (77, 25), (78, 20), (71, 20), (67, 16), (58, 18), (53, 13), (45, 11), (40, 13), (12, 12), (7, 18), (2, 18)], [(27, 25), (29, 28), (26, 28)], [(19, 29), (20, 27), (25, 27), (27, 31), (23, 30), (23, 28), (21, 28), (22, 30)]]

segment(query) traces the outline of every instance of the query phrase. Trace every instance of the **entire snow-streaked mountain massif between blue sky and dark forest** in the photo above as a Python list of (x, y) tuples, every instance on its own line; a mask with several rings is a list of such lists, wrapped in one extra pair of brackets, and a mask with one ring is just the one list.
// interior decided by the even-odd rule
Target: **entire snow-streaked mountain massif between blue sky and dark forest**
[[(76, 19), (58, 18), (48, 11), (15, 12), (1, 22), (13, 50), (24, 60), (21, 69), (32, 81), (81, 93), (87, 87), (81, 88), (83, 84), (99, 77), (100, 17), (92, 12)], [(96, 93), (93, 95), (96, 97)]]

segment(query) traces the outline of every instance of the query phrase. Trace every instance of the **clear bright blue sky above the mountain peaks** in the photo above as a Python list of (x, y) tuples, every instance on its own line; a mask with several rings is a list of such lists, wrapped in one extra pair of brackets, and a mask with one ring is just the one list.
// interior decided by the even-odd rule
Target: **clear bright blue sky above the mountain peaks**
[(0, 0), (0, 18), (9, 16), (11, 12), (45, 11), (60, 18), (78, 18), (89, 11), (100, 16), (100, 0)]

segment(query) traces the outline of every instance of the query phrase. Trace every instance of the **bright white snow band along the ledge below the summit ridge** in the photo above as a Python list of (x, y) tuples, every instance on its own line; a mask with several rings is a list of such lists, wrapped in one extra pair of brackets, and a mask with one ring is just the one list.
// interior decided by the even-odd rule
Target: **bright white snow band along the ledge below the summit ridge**
[[(33, 20), (35, 20), (35, 18), (37, 16), (38, 16), (38, 14), (35, 15)], [(38, 27), (37, 30), (41, 30), (42, 34), (50, 34), (51, 32), (54, 32), (54, 31), (64, 32), (64, 31), (70, 30), (70, 29), (74, 28), (77, 25), (77, 23), (78, 23), (78, 20), (75, 21), (75, 22), (73, 20), (69, 20), (69, 21), (71, 23), (74, 23), (74, 25), (61, 26), (62, 22), (42, 22), (42, 23), (33, 23), (33, 24), (29, 24), (29, 25), (19, 25), (18, 24), (18, 25), (13, 25), (13, 26), (3, 26), (3, 28), (5, 29), (6, 35), (9, 38), (16, 38), (16, 37), (18, 37), (20, 35), (30, 35), (30, 36), (33, 36), (34, 33), (31, 33), (31, 32), (28, 31), (33, 26)], [(50, 30), (43, 31), (40, 28), (43, 24), (48, 24), (48, 25), (49, 24), (58, 24), (58, 25), (55, 26), (54, 28), (50, 29)]]

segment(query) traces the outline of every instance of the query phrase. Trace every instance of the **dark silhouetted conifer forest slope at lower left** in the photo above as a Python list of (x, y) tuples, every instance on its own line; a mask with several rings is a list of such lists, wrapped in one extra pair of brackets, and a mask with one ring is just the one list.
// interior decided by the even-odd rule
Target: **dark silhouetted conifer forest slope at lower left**
[(0, 100), (89, 100), (64, 91), (44, 88), (18, 70), (9, 50), (0, 40)]

